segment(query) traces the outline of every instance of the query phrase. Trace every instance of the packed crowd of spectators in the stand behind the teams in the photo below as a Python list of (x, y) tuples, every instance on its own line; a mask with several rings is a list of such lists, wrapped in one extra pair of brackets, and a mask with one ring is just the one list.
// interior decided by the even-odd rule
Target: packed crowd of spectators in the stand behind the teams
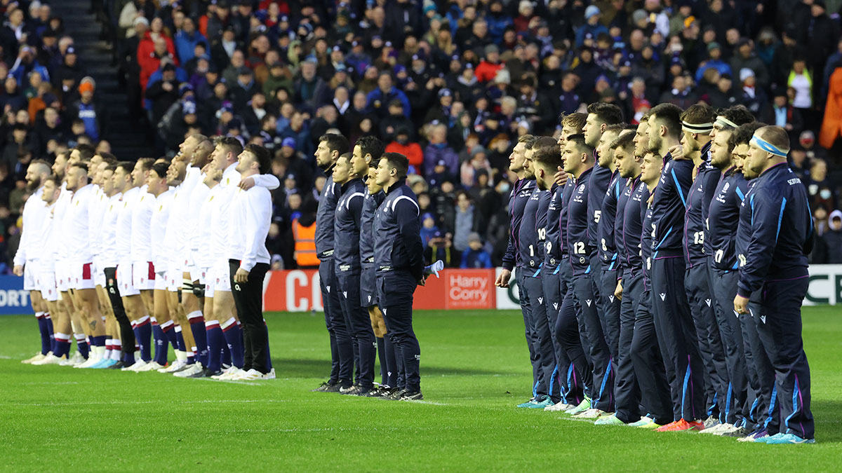
[[(23, 6), (26, 8), (22, 8)], [(319, 136), (368, 134), (409, 157), (431, 259), (500, 263), (517, 136), (552, 136), (597, 101), (635, 124), (669, 102), (744, 104), (789, 130), (817, 221), (813, 263), (842, 262), (840, 0), (94, 0), (132, 116), (160, 155), (189, 133), (274, 153), (269, 251), (295, 268), (314, 220)], [(29, 160), (108, 150), (73, 40), (46, 3), (0, 2), (0, 225), (13, 254)], [(96, 120), (86, 120), (88, 109)], [(827, 110), (828, 113), (823, 112)], [(121, 159), (136, 157), (120, 157)], [(7, 251), (8, 252), (8, 251)]]

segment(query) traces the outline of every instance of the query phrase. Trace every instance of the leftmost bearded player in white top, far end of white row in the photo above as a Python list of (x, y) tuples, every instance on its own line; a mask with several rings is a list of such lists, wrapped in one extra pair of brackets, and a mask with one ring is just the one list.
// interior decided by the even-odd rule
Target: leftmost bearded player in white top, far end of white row
[(44, 261), (45, 224), (51, 210), (45, 205), (41, 195), (44, 194), (44, 181), (50, 174), (50, 165), (41, 160), (30, 162), (26, 168), (26, 190), (29, 192), (29, 199), (26, 199), (24, 205), (24, 227), (20, 233), (18, 251), (13, 259), (13, 273), (24, 276), (24, 290), (29, 291), (29, 300), (35, 311), (41, 337), (40, 351), (35, 353), (34, 357), (22, 361), (27, 364), (44, 359), (52, 350), (52, 320), (46, 300), (40, 293), (40, 279), (43, 273), (41, 268), (47, 263)]

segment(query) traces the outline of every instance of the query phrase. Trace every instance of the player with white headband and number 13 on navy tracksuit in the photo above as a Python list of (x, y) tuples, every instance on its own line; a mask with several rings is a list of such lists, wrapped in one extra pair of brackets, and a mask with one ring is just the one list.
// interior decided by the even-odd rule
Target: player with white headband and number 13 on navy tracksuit
[(717, 325), (716, 303), (707, 278), (705, 255), (705, 215), (720, 172), (710, 163), (713, 120), (716, 114), (705, 104), (691, 105), (681, 114), (681, 149), (674, 149), (674, 159), (688, 159), (695, 166), (695, 179), (687, 194), (685, 231), (685, 291), (695, 325), (705, 380), (705, 429), (719, 423), (719, 406), (727, 400), (727, 365), (722, 338)]

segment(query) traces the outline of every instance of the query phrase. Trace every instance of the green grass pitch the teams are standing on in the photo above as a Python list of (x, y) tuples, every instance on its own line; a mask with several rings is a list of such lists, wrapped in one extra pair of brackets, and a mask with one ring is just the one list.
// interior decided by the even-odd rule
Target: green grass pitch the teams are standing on
[(425, 401), (312, 393), (321, 314), (269, 314), (278, 380), (29, 366), (32, 316), (0, 316), (0, 470), (839, 470), (842, 309), (804, 310), (817, 444), (743, 444), (516, 409), (530, 395), (515, 311), (418, 312)]

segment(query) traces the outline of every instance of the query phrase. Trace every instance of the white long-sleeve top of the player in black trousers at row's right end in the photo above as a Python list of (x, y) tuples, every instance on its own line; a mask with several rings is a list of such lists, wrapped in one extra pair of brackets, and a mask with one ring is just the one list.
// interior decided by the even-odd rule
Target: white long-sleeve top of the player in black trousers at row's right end
[(226, 257), (240, 260), (240, 268), (251, 271), (257, 263), (269, 264), (266, 237), (272, 223), (272, 194), (263, 187), (238, 189), (228, 210)]

